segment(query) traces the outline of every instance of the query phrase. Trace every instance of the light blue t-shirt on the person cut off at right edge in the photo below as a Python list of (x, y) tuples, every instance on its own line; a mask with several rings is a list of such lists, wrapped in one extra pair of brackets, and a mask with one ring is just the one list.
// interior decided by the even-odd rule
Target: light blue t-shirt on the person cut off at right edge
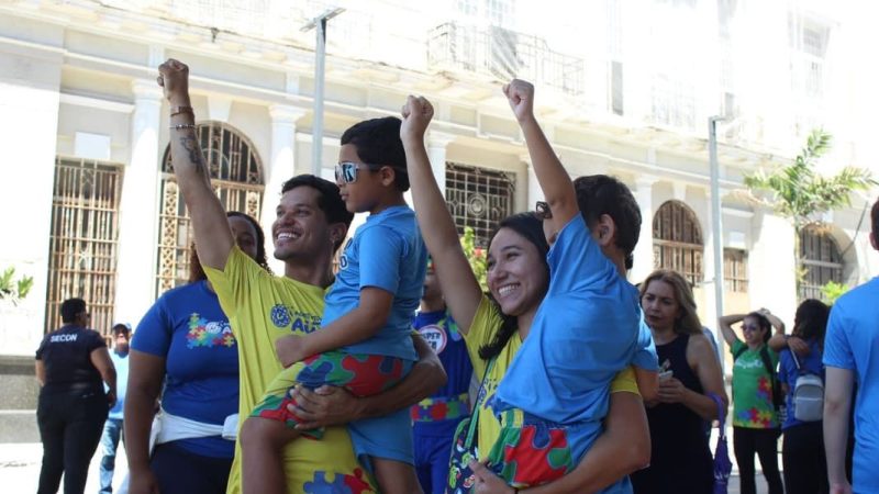
[(854, 490), (879, 492), (879, 278), (841, 296), (831, 308), (824, 364), (855, 374)]

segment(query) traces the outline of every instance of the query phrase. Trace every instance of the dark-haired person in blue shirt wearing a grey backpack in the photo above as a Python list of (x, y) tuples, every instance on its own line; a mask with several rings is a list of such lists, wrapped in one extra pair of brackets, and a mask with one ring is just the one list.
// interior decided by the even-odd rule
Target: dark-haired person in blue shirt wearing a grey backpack
[[(781, 431), (785, 434), (781, 461), (785, 467), (785, 492), (788, 494), (828, 492), (822, 420), (798, 420), (793, 401), (800, 375), (812, 374), (824, 380), (824, 364), (821, 359), (828, 316), (830, 307), (823, 302), (814, 299), (803, 301), (797, 307), (792, 335), (809, 346), (809, 352), (798, 356), (790, 348), (778, 349), (778, 380), (787, 393), (787, 415), (781, 424)], [(772, 344), (770, 339), (769, 346)]]

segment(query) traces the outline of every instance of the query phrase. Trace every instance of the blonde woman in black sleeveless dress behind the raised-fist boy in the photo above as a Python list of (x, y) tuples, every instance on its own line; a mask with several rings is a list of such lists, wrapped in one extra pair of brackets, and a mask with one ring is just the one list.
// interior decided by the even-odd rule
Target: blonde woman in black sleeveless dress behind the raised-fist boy
[[(647, 404), (650, 465), (632, 474), (636, 494), (709, 494), (714, 469), (705, 422), (728, 400), (714, 349), (702, 334), (690, 284), (657, 270), (641, 284), (641, 306), (659, 356), (659, 396)], [(724, 425), (721, 424), (721, 427)]]

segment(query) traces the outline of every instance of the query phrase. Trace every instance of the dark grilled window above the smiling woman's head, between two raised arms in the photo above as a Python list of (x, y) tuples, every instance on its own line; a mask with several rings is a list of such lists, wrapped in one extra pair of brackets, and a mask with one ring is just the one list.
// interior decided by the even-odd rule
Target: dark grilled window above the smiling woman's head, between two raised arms
[(446, 205), (458, 234), (469, 226), (476, 245), (486, 248), (492, 228), (513, 212), (515, 177), (454, 162), (446, 164)]

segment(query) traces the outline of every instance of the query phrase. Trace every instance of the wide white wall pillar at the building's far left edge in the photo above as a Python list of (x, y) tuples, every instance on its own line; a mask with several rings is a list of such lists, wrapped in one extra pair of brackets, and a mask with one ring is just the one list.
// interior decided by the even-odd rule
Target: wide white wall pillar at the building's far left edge
[(0, 302), (2, 355), (33, 357), (43, 337), (63, 58), (14, 45), (0, 50), (0, 271), (14, 267), (13, 281), (34, 280), (18, 305)]

